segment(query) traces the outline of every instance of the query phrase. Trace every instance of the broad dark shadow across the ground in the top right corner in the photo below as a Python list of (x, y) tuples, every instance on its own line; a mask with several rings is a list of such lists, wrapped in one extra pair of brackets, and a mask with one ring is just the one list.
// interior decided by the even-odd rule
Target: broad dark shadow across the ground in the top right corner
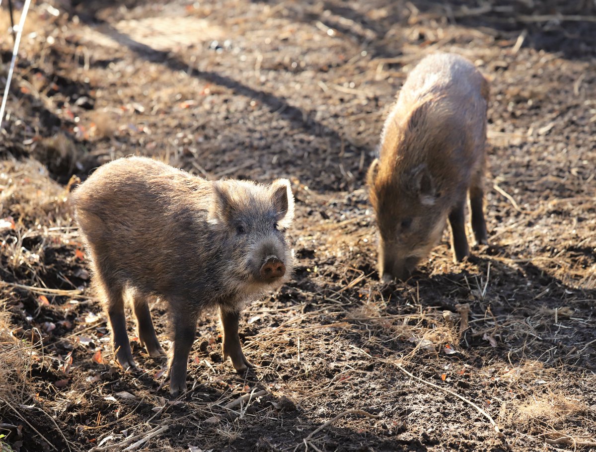
[[(412, 29), (417, 24), (436, 28), (437, 22), (489, 31), (495, 39), (516, 39), (523, 33), (524, 47), (561, 52), (568, 59), (596, 55), (596, 27), (589, 17), (596, 14), (596, 5), (588, 2), (545, 0), (493, 4), (477, 0), (399, 0), (389, 3), (373, 0), (358, 4), (327, 0), (289, 5), (269, 0), (266, 3), (284, 4), (293, 20), (321, 21), (333, 27), (369, 47), (373, 57), (401, 54), (399, 39), (393, 36), (396, 24)], [(423, 44), (426, 38), (421, 38)]]

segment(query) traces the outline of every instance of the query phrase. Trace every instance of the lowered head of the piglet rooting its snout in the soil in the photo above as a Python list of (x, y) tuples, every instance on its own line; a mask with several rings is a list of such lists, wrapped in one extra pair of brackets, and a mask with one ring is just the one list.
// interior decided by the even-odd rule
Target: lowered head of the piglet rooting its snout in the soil
[(446, 212), (437, 208), (440, 192), (426, 163), (386, 163), (375, 159), (367, 175), (380, 232), (378, 271), (384, 281), (403, 280), (439, 241)]

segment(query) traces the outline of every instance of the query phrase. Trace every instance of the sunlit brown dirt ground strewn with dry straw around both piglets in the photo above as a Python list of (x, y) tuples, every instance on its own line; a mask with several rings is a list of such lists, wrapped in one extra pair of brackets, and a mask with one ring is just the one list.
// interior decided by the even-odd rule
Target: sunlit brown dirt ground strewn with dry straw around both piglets
[[(0, 132), (2, 450), (595, 447), (595, 43), (588, 1), (33, 2)], [(382, 284), (364, 176), (434, 51), (491, 81), (491, 245), (454, 264), (445, 231)], [(73, 174), (130, 154), (296, 196), (294, 276), (241, 318), (256, 369), (207, 313), (178, 400), (138, 340), (117, 367), (69, 212)]]

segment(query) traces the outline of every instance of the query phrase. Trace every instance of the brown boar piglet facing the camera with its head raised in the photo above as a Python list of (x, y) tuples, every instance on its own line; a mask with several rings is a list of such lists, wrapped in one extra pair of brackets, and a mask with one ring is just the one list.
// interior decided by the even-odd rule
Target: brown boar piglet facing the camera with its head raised
[(93, 278), (110, 318), (114, 352), (134, 367), (123, 295), (133, 294), (138, 336), (152, 357), (163, 354), (148, 301), (169, 305), (170, 393), (186, 388), (198, 315), (218, 308), (224, 359), (252, 367), (238, 338), (244, 302), (281, 286), (293, 267), (284, 230), (292, 222), (290, 183), (206, 181), (142, 157), (101, 166), (73, 193)]

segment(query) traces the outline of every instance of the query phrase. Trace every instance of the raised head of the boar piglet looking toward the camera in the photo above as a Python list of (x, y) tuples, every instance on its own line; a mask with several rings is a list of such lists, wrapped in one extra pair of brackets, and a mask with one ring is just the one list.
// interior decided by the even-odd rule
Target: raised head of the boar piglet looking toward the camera
[(285, 230), (294, 218), (290, 182), (271, 185), (249, 181), (213, 182), (210, 222), (226, 240), (224, 273), (245, 292), (280, 286), (291, 274), (293, 255)]

